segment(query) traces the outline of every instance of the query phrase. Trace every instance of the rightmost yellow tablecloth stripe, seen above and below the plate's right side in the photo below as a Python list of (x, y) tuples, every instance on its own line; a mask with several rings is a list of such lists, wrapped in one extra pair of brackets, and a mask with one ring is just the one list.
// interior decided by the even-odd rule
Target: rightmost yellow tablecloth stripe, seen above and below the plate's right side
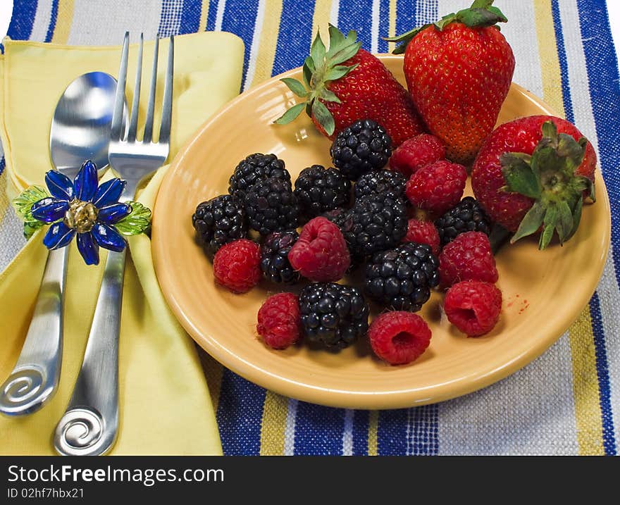
[[(543, 99), (556, 113), (564, 116), (562, 80), (553, 30), (550, 0), (535, 0), (534, 15), (540, 70), (543, 76)], [(569, 328), (573, 362), (573, 396), (579, 454), (605, 454), (602, 413), (596, 372), (596, 356), (590, 307), (585, 306)]]

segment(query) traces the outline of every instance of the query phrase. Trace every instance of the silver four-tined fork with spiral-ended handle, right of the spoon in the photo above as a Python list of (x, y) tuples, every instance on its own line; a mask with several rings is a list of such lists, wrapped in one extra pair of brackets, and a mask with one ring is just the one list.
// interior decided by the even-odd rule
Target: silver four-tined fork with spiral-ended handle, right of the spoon
[[(135, 92), (129, 127), (124, 133), (123, 104), (129, 54), (129, 32), (125, 32), (108, 148), (111, 168), (127, 181), (125, 192), (120, 197), (120, 201), (124, 202), (135, 198), (137, 187), (163, 165), (170, 151), (174, 37), (170, 37), (168, 46), (168, 67), (166, 68), (161, 126), (157, 142), (153, 142), (152, 137), (159, 39), (155, 39), (144, 135), (141, 141), (137, 139), (143, 44), (144, 37), (140, 34)], [(118, 337), (120, 309), (123, 302), (125, 254), (126, 248), (121, 252), (109, 251), (108, 253), (82, 368), (77, 375), (67, 410), (56, 425), (54, 432), (54, 447), (58, 454), (67, 456), (105, 454), (116, 441), (118, 432)]]

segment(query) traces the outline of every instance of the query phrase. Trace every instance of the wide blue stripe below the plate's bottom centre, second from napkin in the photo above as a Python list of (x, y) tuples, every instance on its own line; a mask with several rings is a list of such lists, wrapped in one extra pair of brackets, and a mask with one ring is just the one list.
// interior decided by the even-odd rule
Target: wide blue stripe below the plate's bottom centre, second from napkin
[(299, 401), (295, 417), (294, 454), (337, 456), (342, 454), (345, 410)]

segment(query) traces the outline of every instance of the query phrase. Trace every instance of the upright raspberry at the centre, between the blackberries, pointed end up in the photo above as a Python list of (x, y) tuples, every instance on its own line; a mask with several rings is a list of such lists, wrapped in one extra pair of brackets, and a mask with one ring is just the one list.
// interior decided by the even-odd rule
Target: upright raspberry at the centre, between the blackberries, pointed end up
[(340, 228), (319, 216), (304, 225), (288, 253), (288, 261), (307, 279), (333, 282), (345, 275), (351, 257)]

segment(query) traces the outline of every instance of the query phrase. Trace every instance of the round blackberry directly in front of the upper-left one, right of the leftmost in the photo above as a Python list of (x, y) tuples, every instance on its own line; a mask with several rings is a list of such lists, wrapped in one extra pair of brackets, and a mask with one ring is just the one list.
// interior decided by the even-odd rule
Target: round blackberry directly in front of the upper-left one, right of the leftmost
[(249, 226), (261, 235), (293, 230), (299, 224), (299, 204), (289, 181), (269, 177), (256, 182), (246, 194)]

